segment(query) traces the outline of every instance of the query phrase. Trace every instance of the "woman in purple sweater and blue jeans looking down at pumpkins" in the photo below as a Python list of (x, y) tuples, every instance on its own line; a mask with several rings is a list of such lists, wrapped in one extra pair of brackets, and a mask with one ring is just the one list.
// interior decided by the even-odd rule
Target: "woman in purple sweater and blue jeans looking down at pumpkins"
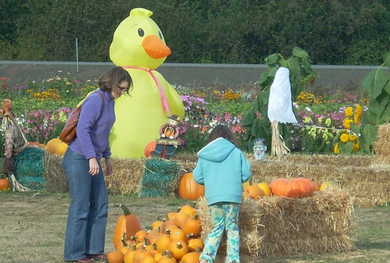
[[(108, 196), (105, 175), (113, 172), (108, 136), (115, 122), (114, 99), (129, 93), (132, 81), (122, 67), (112, 67), (99, 79), (99, 89), (82, 104), (76, 137), (64, 155), (71, 203), (66, 223), (64, 260), (93, 262), (104, 254)], [(100, 94), (97, 94), (100, 93)]]

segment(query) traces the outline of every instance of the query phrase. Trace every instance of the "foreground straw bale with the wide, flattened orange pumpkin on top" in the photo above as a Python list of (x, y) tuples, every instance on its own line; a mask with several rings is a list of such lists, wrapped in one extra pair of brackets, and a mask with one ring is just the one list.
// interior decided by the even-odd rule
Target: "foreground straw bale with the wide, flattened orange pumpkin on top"
[[(211, 231), (211, 218), (204, 199), (199, 199), (198, 211), (205, 241)], [(316, 192), (308, 198), (245, 199), (239, 217), (240, 258), (255, 262), (251, 260), (258, 255), (351, 251), (352, 213), (352, 199), (344, 191)], [(218, 249), (221, 254), (226, 252), (225, 243), (226, 239)]]

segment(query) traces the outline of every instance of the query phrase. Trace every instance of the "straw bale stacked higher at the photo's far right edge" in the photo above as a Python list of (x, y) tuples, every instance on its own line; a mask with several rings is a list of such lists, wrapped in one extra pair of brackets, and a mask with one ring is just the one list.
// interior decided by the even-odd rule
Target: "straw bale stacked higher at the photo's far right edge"
[(378, 163), (390, 164), (390, 122), (378, 126), (378, 139), (374, 144)]

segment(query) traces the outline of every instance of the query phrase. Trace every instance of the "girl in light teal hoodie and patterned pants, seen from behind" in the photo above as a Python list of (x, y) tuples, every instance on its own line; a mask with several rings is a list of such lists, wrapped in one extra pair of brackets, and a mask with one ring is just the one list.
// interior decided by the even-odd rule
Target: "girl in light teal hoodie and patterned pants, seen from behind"
[(209, 144), (198, 152), (199, 160), (193, 170), (194, 179), (205, 187), (213, 229), (207, 235), (200, 263), (214, 262), (222, 234), (227, 233), (225, 262), (239, 263), (238, 215), (242, 183), (252, 173), (245, 155), (236, 147), (234, 133), (225, 125), (210, 132)]

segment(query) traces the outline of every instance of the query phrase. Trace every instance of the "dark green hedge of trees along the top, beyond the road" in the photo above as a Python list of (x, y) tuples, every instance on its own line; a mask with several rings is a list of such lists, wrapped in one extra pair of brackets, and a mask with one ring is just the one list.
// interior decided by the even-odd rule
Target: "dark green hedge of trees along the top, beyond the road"
[(0, 60), (110, 61), (113, 32), (135, 7), (154, 12), (166, 62), (263, 64), (306, 50), (313, 64), (378, 65), (387, 0), (2, 0)]

